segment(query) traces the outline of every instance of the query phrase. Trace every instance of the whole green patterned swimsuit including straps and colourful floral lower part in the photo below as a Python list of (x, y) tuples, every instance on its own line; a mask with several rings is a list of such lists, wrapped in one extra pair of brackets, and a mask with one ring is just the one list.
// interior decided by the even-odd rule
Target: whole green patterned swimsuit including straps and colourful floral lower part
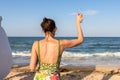
[(39, 59), (39, 73), (35, 74), (34, 80), (61, 80), (59, 73), (60, 65), (60, 41), (58, 41), (58, 60), (54, 64), (40, 62), (40, 45), (38, 41), (38, 59)]

